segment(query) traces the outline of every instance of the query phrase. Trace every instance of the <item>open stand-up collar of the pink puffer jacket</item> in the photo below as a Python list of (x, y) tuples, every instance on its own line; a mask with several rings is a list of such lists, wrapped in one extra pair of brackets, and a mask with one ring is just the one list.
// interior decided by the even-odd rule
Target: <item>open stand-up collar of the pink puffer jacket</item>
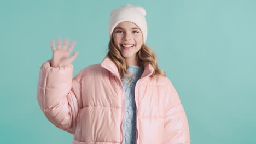
[[(120, 79), (120, 76), (118, 73), (118, 68), (117, 68), (117, 66), (115, 66), (114, 62), (111, 61), (111, 59), (108, 57), (108, 55), (106, 55), (103, 58), (103, 60), (101, 62), (101, 66), (103, 68), (106, 68), (107, 70), (109, 70), (111, 73), (113, 73), (115, 76), (119, 77), (119, 79)], [(153, 66), (149, 62), (144, 63), (143, 67), (144, 67), (144, 71), (141, 75), (141, 79), (143, 77), (149, 77), (154, 71)]]

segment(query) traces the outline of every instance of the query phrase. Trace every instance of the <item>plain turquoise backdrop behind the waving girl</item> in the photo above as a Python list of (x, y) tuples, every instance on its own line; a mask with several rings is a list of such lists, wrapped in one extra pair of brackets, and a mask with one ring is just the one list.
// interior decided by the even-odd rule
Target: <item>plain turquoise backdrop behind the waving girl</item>
[(147, 11), (146, 44), (187, 113), (191, 143), (256, 143), (256, 1), (1, 1), (1, 143), (71, 143), (36, 100), (50, 40), (77, 41), (74, 74), (107, 54), (110, 10)]

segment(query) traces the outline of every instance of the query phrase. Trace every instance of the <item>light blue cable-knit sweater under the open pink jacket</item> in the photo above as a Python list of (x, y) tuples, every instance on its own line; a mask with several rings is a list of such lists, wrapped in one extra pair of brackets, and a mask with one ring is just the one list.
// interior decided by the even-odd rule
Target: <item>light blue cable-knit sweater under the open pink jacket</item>
[(134, 97), (134, 90), (136, 82), (141, 78), (144, 71), (143, 67), (129, 65), (128, 71), (133, 73), (133, 79), (130, 84), (130, 77), (123, 82), (125, 91), (125, 120), (123, 125), (124, 142), (123, 144), (135, 144), (136, 140), (136, 104)]

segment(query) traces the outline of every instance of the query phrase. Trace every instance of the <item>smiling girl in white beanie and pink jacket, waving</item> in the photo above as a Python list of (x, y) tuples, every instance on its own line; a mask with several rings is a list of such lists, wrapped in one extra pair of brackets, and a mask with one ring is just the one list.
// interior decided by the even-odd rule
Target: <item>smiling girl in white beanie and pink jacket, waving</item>
[(51, 41), (53, 58), (40, 68), (37, 100), (73, 144), (190, 143), (187, 116), (176, 89), (146, 45), (146, 10), (130, 4), (113, 9), (109, 51), (72, 79), (77, 57), (69, 45)]

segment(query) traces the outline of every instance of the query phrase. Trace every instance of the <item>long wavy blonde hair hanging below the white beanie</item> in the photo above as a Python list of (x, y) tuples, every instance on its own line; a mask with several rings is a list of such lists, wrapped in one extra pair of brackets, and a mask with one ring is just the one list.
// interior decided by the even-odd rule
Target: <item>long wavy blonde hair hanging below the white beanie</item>
[[(127, 69), (129, 68), (129, 64), (125, 60), (125, 57), (121, 55), (121, 51), (118, 49), (118, 47), (115, 47), (113, 34), (109, 40), (107, 55), (111, 59), (111, 61), (114, 62), (114, 64), (117, 66), (121, 81), (124, 81), (125, 75), (127, 74), (130, 76), (129, 83), (131, 83), (132, 73), (127, 71)], [(136, 53), (136, 56), (140, 67), (143, 67), (143, 63), (146, 62), (149, 62), (153, 66), (153, 74), (149, 77), (153, 77), (156, 75), (166, 76), (166, 72), (158, 68), (158, 61), (155, 52), (152, 49), (150, 49), (146, 44), (142, 44), (141, 49)]]

